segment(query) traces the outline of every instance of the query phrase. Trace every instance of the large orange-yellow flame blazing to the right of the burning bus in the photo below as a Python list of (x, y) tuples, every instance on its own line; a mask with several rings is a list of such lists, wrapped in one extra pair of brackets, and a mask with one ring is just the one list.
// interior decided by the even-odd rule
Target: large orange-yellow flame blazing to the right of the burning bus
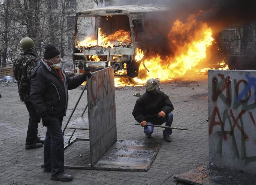
[[(177, 26), (182, 29), (185, 25), (177, 24)], [(175, 27), (171, 32), (177, 29)], [(150, 71), (147, 72), (146, 79), (159, 77), (162, 81), (165, 81), (184, 75), (187, 70), (191, 70), (206, 58), (206, 48), (213, 41), (211, 35), (211, 29), (204, 24), (201, 30), (194, 35), (194, 40), (177, 48), (174, 58), (169, 56), (162, 58), (157, 55), (145, 60), (145, 66)], [(143, 66), (140, 66), (140, 69), (143, 69)]]

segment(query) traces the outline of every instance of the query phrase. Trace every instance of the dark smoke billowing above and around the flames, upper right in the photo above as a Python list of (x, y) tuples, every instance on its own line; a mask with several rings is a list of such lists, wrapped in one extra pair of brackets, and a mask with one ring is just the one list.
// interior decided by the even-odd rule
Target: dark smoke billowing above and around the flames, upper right
[[(182, 22), (187, 22), (187, 18), (190, 15), (196, 14), (196, 19), (199, 23), (206, 22), (207, 25), (212, 28), (214, 32), (212, 36), (214, 37), (214, 43), (210, 48), (211, 51), (209, 51), (209, 54), (207, 54), (208, 58), (206, 59), (209, 63), (217, 63), (222, 58), (226, 61), (225, 57), (228, 57), (226, 55), (227, 53), (221, 49), (221, 41), (219, 40), (220, 33), (222, 33), (221, 31), (228, 27), (238, 27), (246, 30), (247, 27), (250, 27), (250, 25), (254, 25), (255, 27), (256, 24), (256, 0), (116, 0), (116, 3), (112, 5), (118, 6), (131, 4), (169, 5), (173, 7), (170, 9), (168, 15), (162, 16), (161, 18), (158, 18), (158, 20), (156, 20), (154, 15), (152, 15), (152, 18), (149, 18), (154, 22), (160, 22), (159, 24), (162, 24), (163, 26), (161, 26), (160, 31), (157, 28), (152, 29), (157, 30), (156, 33), (159, 34), (155, 35), (157, 39), (154, 44), (149, 43), (147, 45), (147, 50), (157, 51), (165, 56), (175, 55), (175, 49), (171, 48), (168, 50), (166, 47), (169, 45), (169, 40), (177, 40), (181, 42), (182, 40), (180, 38), (182, 38), (183, 40), (185, 39), (185, 42), (187, 42), (187, 40), (190, 38), (187, 36), (193, 34), (193, 31), (197, 29), (196, 25), (194, 30), (190, 30), (189, 33), (181, 32), (180, 35), (177, 33), (172, 35), (172, 38), (167, 38), (168, 34), (166, 33), (171, 30), (173, 22), (176, 19)], [(169, 21), (168, 24), (166, 24), (166, 20)], [(246, 31), (243, 33), (244, 35), (242, 35), (240, 39), (243, 41), (251, 39), (247, 38)], [(233, 63), (233, 61), (227, 62), (229, 64)]]

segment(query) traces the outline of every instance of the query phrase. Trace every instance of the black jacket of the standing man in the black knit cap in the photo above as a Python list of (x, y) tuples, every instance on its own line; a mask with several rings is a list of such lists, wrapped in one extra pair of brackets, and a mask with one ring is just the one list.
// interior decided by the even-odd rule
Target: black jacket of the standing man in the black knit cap
[(44, 61), (39, 61), (30, 72), (30, 101), (36, 112), (47, 113), (52, 118), (66, 116), (68, 90), (77, 88), (84, 81), (81, 76), (69, 78), (62, 70), (63, 82), (57, 72)]

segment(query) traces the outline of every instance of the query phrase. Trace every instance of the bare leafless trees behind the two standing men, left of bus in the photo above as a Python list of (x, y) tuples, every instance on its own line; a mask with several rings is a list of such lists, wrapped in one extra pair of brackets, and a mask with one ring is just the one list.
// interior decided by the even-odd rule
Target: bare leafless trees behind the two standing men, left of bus
[[(20, 40), (31, 37), (41, 56), (46, 43), (54, 43), (61, 55), (72, 53), (75, 13), (112, 0), (0, 0), (0, 67), (6, 66), (8, 51), (20, 54)], [(86, 34), (87, 30), (84, 30)], [(12, 55), (12, 60), (15, 55)]]

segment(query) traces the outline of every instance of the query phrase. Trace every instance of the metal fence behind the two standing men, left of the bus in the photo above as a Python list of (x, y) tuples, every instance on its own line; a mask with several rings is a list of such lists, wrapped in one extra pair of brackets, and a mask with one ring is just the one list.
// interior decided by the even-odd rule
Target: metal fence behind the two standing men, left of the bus
[[(60, 48), (57, 46), (57, 48)], [(35, 51), (39, 58), (41, 58), (44, 54), (44, 48), (36, 48)], [(65, 45), (60, 48), (60, 52), (63, 58), (72, 56), (73, 47), (69, 45)], [(0, 49), (0, 68), (10, 67), (14, 63), (15, 59), (20, 56), (21, 49), (20, 48), (9, 48)]]

